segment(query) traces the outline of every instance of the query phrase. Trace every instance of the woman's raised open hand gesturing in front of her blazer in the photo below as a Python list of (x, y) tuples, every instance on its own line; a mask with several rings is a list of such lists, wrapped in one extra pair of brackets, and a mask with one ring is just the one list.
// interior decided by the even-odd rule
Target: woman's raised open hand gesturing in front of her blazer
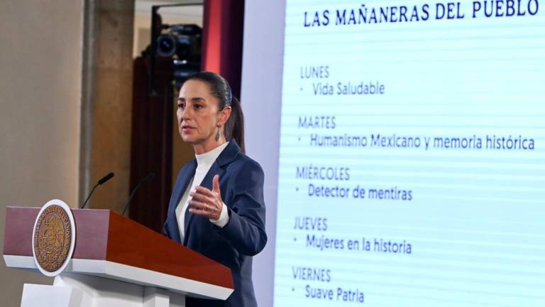
[(208, 217), (210, 220), (219, 220), (221, 209), (224, 208), (219, 190), (219, 175), (214, 176), (212, 180), (212, 190), (199, 185), (189, 196), (192, 197), (189, 200), (189, 205), (192, 206), (189, 207), (189, 212)]

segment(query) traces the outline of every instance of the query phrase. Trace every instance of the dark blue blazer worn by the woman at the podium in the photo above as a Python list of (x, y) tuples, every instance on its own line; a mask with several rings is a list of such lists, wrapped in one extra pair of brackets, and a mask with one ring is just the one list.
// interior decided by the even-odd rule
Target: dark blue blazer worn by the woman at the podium
[[(164, 232), (178, 243), (182, 242), (175, 210), (196, 169), (196, 160), (182, 167), (170, 197)], [(207, 217), (194, 215), (187, 210), (182, 244), (228, 266), (233, 274), (235, 291), (225, 302), (186, 298), (186, 305), (257, 306), (252, 284), (252, 256), (261, 252), (267, 243), (263, 169), (231, 140), (212, 164), (201, 185), (211, 190), (212, 178), (216, 174), (219, 175), (221, 198), (229, 210), (229, 222), (219, 228)]]

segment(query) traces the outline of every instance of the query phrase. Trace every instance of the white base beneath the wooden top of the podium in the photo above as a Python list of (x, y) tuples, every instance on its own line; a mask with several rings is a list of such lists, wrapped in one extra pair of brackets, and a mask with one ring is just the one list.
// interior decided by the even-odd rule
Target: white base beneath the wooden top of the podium
[(25, 284), (21, 307), (185, 307), (185, 296), (154, 287), (64, 273), (53, 286)]

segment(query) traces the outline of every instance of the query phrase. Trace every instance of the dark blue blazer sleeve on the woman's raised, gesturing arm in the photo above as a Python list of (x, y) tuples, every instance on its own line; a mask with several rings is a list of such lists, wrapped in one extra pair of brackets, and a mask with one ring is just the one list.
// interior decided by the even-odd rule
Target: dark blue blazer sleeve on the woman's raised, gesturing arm
[(258, 254), (267, 243), (263, 181), (263, 169), (258, 163), (243, 163), (229, 183), (233, 195), (225, 202), (229, 208), (229, 222), (222, 228), (214, 226), (240, 254)]

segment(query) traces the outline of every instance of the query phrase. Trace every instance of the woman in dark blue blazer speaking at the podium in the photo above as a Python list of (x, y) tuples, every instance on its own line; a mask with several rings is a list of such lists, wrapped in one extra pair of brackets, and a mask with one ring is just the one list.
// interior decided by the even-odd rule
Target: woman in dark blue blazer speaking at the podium
[(252, 256), (267, 243), (263, 169), (244, 154), (241, 105), (224, 77), (199, 72), (183, 83), (177, 107), (195, 159), (178, 174), (165, 235), (228, 266), (235, 285), (226, 301), (187, 298), (186, 305), (257, 306)]

